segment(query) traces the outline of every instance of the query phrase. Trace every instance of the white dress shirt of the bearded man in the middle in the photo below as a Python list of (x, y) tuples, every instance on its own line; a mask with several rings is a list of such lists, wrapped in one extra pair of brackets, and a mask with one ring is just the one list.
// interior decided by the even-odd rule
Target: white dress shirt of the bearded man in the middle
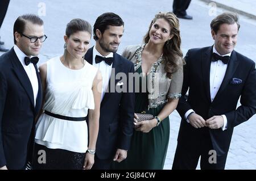
[(93, 66), (98, 68), (101, 71), (102, 74), (102, 92), (101, 92), (101, 100), (104, 98), (105, 92), (108, 89), (109, 86), (109, 79), (112, 73), (112, 65), (108, 65), (106, 64), (105, 61), (101, 61), (100, 63), (96, 64), (95, 62), (95, 57), (96, 55), (101, 56), (101, 57), (113, 57), (113, 53), (109, 53), (107, 56), (102, 56), (102, 54), (100, 54), (97, 49), (95, 48), (95, 46), (93, 47)]

